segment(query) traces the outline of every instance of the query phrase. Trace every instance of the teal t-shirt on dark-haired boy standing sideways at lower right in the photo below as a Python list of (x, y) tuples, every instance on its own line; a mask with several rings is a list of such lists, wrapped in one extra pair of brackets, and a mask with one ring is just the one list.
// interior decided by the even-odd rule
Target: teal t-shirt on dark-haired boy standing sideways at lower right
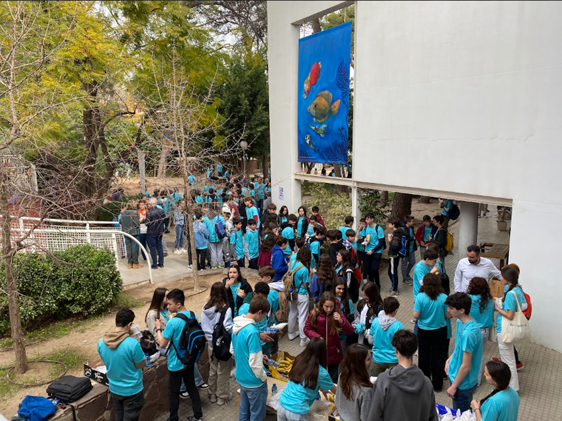
[(474, 320), (466, 323), (457, 319), (455, 350), (449, 361), (449, 378), (451, 383), (455, 381), (459, 368), (463, 364), (463, 354), (471, 353), (470, 369), (463, 381), (458, 386), (459, 389), (469, 389), (478, 383), (478, 370), (482, 360), (482, 334), (480, 328)]

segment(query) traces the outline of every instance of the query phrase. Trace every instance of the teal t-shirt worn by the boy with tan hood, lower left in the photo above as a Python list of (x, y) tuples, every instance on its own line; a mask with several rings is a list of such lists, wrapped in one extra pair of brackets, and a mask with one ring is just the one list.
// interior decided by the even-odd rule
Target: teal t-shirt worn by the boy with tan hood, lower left
[(142, 363), (146, 357), (139, 341), (129, 336), (111, 349), (101, 338), (98, 341), (98, 354), (107, 368), (109, 390), (112, 393), (133, 396), (142, 392), (142, 368), (135, 367), (135, 364)]

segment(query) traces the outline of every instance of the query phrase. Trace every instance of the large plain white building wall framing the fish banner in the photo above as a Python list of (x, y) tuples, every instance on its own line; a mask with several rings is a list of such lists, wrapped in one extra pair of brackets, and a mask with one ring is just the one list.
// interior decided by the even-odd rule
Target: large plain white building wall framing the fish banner
[[(291, 211), (292, 24), (337, 3), (268, 2), (271, 166), (291, 179)], [(513, 199), (510, 262), (533, 299), (533, 337), (562, 351), (562, 3), (359, 1), (355, 16), (353, 181)]]

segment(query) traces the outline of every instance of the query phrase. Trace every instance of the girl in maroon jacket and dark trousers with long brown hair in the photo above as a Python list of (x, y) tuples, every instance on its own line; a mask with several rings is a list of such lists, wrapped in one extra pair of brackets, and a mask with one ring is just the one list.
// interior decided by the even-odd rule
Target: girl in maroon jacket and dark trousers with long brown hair
[[(298, 259), (298, 258), (297, 258)], [(310, 339), (320, 337), (326, 343), (328, 353), (328, 373), (334, 383), (338, 381), (339, 363), (343, 360), (339, 334), (351, 335), (353, 327), (336, 307), (336, 297), (326, 291), (320, 296), (318, 305), (309, 314), (305, 324), (305, 334)]]

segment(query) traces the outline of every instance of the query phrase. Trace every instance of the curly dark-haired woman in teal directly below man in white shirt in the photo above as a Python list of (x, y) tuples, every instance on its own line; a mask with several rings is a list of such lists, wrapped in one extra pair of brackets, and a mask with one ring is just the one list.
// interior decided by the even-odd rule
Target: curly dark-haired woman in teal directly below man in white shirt
[[(466, 294), (468, 294), (472, 300), (470, 315), (480, 328), (480, 332), (482, 333), (482, 349), (484, 349), (486, 342), (488, 342), (488, 331), (492, 327), (493, 323), (494, 302), (492, 294), (490, 293), (490, 285), (488, 285), (488, 281), (484, 278), (479, 276), (474, 277), (468, 284)], [(480, 370), (478, 371), (478, 386), (482, 383), (483, 372), (484, 354), (482, 354), (482, 362), (480, 364)]]

